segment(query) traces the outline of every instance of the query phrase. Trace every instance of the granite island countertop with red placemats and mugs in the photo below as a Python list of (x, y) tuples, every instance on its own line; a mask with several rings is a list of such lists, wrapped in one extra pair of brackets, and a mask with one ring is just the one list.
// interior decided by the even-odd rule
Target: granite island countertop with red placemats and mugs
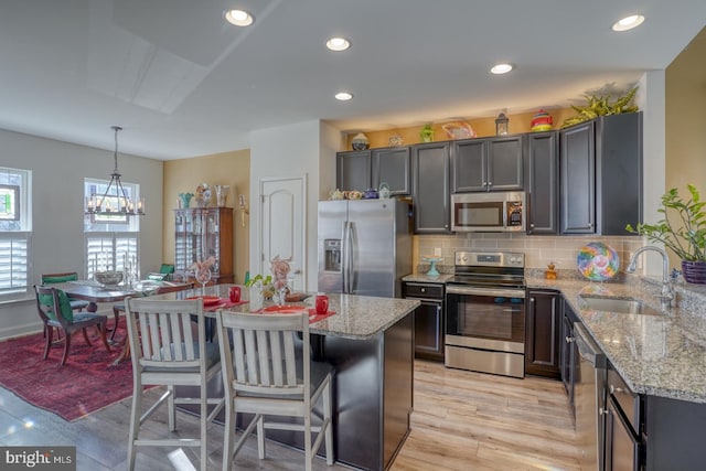
[[(234, 285), (215, 285), (206, 287), (204, 295), (228, 298), (228, 289)], [(248, 299), (248, 289), (242, 288), (242, 299)], [(159, 295), (153, 298), (161, 299), (184, 299), (201, 295), (201, 289), (180, 291), (174, 293)], [(288, 302), (287, 306), (313, 307), (315, 293), (304, 300), (304, 302)], [(416, 299), (377, 298), (372, 296), (327, 293), (329, 297), (329, 311), (335, 312), (319, 322), (310, 324), (310, 332), (321, 335), (334, 335), (345, 339), (371, 339), (411, 311), (417, 309), (420, 301)], [(226, 308), (234, 312), (249, 312), (248, 303)], [(265, 307), (274, 306), (271, 301), (265, 301)]]

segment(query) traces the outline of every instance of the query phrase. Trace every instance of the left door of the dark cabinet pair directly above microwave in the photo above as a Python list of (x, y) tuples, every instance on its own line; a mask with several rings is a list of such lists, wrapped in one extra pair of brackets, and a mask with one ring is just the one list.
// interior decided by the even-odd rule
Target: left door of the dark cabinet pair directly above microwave
[(469, 139), (451, 144), (451, 191), (453, 193), (488, 191), (485, 158), (488, 141)]

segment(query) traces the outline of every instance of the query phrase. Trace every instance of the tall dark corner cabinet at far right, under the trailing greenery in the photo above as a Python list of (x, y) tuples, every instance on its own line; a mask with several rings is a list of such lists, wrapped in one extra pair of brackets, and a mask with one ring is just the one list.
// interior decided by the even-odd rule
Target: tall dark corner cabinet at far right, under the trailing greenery
[(559, 132), (561, 234), (627, 235), (642, 218), (642, 113)]

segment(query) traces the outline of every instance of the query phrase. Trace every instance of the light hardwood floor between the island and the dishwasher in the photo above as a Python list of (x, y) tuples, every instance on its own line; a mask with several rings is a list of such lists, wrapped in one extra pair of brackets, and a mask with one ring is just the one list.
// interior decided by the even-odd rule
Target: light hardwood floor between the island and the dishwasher
[(411, 432), (392, 470), (580, 470), (558, 381), (415, 362)]

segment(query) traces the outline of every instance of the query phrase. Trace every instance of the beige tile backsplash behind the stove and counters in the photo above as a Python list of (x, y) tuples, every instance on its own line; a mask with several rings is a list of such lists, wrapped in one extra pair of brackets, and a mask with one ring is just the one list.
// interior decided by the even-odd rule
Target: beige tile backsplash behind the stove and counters
[[(422, 257), (432, 257), (441, 253), (439, 271), (452, 271), (453, 254), (457, 250), (503, 250), (523, 251), (526, 268), (546, 268), (554, 263), (557, 269), (576, 269), (578, 250), (589, 242), (602, 242), (612, 247), (620, 257), (620, 270), (624, 271), (630, 256), (645, 244), (635, 236), (528, 236), (505, 233), (468, 233), (454, 235), (418, 235), (414, 237), (414, 266), (417, 271), (428, 267)], [(640, 260), (642, 263), (642, 260)], [(640, 266), (639, 266), (640, 268)]]

